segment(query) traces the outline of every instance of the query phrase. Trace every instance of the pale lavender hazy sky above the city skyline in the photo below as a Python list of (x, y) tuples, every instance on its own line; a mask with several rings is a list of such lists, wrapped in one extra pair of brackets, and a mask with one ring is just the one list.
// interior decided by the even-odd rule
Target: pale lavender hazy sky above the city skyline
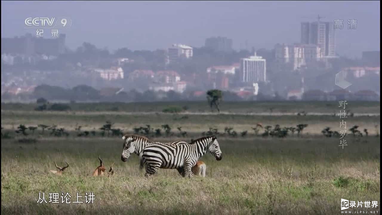
[[(339, 54), (380, 50), (379, 1), (2, 1), (1, 7), (2, 37), (36, 34), (24, 28), (27, 17), (69, 16), (73, 25), (61, 32), (71, 49), (84, 41), (110, 51), (201, 47), (211, 36), (233, 39), (234, 49), (245, 48), (246, 40), (248, 49), (271, 49), (300, 42), (300, 22), (319, 14), (322, 21), (344, 20), (336, 31)], [(357, 29), (347, 29), (348, 19), (358, 20)]]

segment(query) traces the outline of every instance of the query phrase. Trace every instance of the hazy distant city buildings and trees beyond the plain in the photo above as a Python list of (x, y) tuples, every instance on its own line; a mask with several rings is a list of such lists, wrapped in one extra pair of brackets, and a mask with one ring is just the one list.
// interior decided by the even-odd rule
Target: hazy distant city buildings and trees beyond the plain
[[(335, 51), (336, 42), (333, 23), (320, 20), (301, 22), (301, 37), (298, 40), (300, 41), (291, 44), (275, 44), (274, 49), (269, 52), (264, 51), (264, 49), (255, 51), (253, 47), (252, 52), (248, 50), (245, 52), (244, 50), (244, 52), (238, 53), (233, 52), (232, 39), (221, 36), (209, 37), (205, 40), (204, 46), (206, 49), (200, 49), (200, 52), (205, 52), (206, 55), (217, 53), (219, 57), (223, 57), (220, 57), (220, 59), (211, 57), (210, 59), (215, 60), (215, 62), (206, 59), (206, 62), (202, 62), (203, 68), (190, 69), (193, 72), (181, 72), (183, 70), (182, 66), (185, 66), (182, 64), (191, 62), (194, 57), (193, 47), (186, 44), (172, 44), (165, 50), (155, 51), (155, 54), (154, 52), (136, 54), (139, 51), (122, 50), (116, 55), (107, 53), (105, 54), (107, 57), (101, 57), (102, 54), (99, 54), (100, 56), (97, 55), (95, 60), (86, 58), (74, 63), (71, 62), (70, 56), (70, 60), (65, 65), (60, 66), (70, 68), (68, 70), (74, 74), (73, 80), (79, 80), (79, 77), (85, 77), (85, 79), (89, 77), (93, 81), (95, 80), (94, 83), (97, 81), (101, 85), (102, 83), (105, 83), (105, 85), (113, 85), (114, 83), (123, 85), (126, 80), (126, 83), (128, 83), (125, 86), (126, 88), (127, 85), (134, 85), (135, 88), (149, 89), (155, 92), (176, 91), (183, 93), (187, 87), (194, 88), (197, 86), (199, 88), (231, 91), (245, 99), (264, 92), (275, 95), (275, 92), (280, 92), (280, 89), (283, 91), (283, 97), (291, 100), (331, 100), (341, 96), (344, 98), (359, 98), (360, 96), (367, 99), (377, 98), (375, 94), (369, 91), (356, 93), (329, 92), (333, 90), (330, 87), (320, 88), (324, 91), (311, 90), (309, 86), (306, 86), (308, 84), (304, 83), (304, 77), (307, 74), (304, 72), (309, 72), (309, 67), (320, 67), (319, 69), (322, 70), (328, 69), (331, 66), (331, 59), (339, 57)], [(89, 47), (85, 47), (85, 49), (89, 49), (88, 51), (91, 52), (92, 47)], [(35, 66), (39, 65), (39, 62), (57, 59), (60, 54), (65, 53), (65, 34), (60, 34), (57, 39), (37, 38), (32, 37), (31, 34), (22, 37), (2, 38), (1, 50), (3, 65), (11, 67), (30, 64)], [(199, 51), (196, 48), (195, 50)], [(200, 52), (195, 51), (195, 53)], [(102, 53), (104, 53), (104, 50), (102, 50)], [(246, 54), (243, 55), (242, 53)], [(142, 57), (143, 55), (148, 57)], [(235, 55), (235, 60), (227, 60), (227, 56), (233, 55)], [(225, 62), (222, 62), (222, 59)], [(232, 64), (233, 62), (236, 63)], [(67, 66), (68, 64), (69, 66)], [(20, 70), (19, 67), (15, 70), (22, 73), (18, 71)], [(362, 65), (355, 67), (342, 65), (337, 70), (339, 71), (335, 72), (344, 72), (345, 78), (360, 78), (361, 80), (374, 77), (374, 75), (380, 76), (380, 51), (363, 52)], [(293, 79), (293, 85), (283, 85), (275, 89), (278, 86), (271, 83), (273, 79), (272, 73), (269, 73), (269, 71), (274, 72), (274, 74), (278, 72), (284, 73), (283, 75), (295, 74), (294, 79), (291, 78)], [(2, 81), (2, 93), (4, 91), (11, 94), (29, 92), (33, 89), (32, 86), (35, 86), (38, 78), (42, 77), (40, 80), (43, 80), (44, 77), (53, 74), (49, 69), (30, 73), (23, 72), (24, 74), (19, 77), (13, 77), (12, 72), (3, 72), (2, 70), (2, 79), (3, 77), (8, 78), (8, 81)], [(314, 75), (312, 74), (312, 76)], [(120, 88), (113, 88), (114, 91), (118, 89)], [(194, 92), (194, 96), (199, 94), (204, 93), (203, 91)]]

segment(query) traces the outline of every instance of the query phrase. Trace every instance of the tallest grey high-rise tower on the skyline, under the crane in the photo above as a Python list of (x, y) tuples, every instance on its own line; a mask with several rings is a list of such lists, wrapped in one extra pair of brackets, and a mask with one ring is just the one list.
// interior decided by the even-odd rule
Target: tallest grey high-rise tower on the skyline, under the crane
[(301, 22), (301, 43), (315, 44), (322, 55), (335, 56), (335, 31), (330, 22)]

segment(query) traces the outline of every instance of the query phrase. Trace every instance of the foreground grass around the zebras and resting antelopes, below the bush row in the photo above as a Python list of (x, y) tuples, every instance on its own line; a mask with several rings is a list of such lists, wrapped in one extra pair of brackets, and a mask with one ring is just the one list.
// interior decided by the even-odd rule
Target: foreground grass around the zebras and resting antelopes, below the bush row
[[(167, 139), (169, 140), (169, 139)], [(151, 179), (138, 156), (120, 161), (120, 138), (2, 140), (5, 214), (336, 214), (341, 198), (380, 200), (379, 138), (219, 139), (222, 161), (206, 154), (206, 178), (181, 178), (160, 169)], [(115, 162), (115, 175), (91, 177)], [(62, 176), (53, 161), (70, 164)], [(39, 192), (94, 192), (94, 204), (37, 204)], [(15, 201), (20, 199), (20, 201)], [(75, 200), (75, 199), (74, 199)], [(47, 199), (49, 201), (49, 199)]]

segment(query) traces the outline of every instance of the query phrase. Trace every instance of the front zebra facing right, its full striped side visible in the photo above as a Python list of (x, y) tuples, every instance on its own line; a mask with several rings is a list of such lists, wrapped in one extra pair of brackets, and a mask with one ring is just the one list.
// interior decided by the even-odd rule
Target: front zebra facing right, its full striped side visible
[(153, 176), (159, 168), (183, 169), (183, 177), (193, 177), (191, 168), (209, 151), (216, 160), (222, 160), (222, 151), (215, 136), (201, 137), (189, 144), (154, 143), (143, 149), (139, 167), (146, 165), (146, 177)]

